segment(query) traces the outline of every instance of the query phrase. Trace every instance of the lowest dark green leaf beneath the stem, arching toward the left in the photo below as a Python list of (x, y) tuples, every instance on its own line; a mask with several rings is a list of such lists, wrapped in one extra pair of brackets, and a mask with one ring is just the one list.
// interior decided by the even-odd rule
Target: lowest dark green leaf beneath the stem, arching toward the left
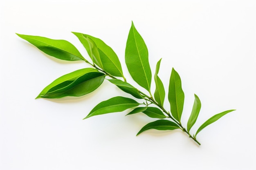
[(174, 130), (180, 128), (177, 124), (175, 124), (172, 121), (168, 120), (157, 120), (153, 121), (149, 124), (146, 124), (139, 132), (137, 135), (139, 135), (141, 132), (144, 132), (149, 129), (156, 129), (156, 130)]

